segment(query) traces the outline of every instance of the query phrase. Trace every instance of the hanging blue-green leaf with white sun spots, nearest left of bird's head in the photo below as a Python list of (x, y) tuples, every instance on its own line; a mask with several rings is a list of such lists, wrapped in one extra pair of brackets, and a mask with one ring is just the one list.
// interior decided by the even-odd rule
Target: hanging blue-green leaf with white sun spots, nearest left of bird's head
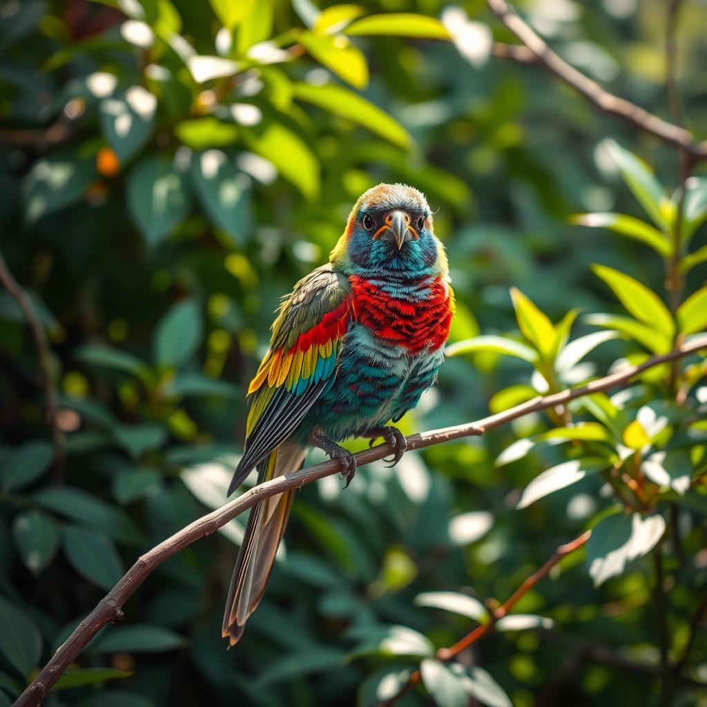
[(234, 245), (245, 243), (252, 221), (250, 177), (226, 153), (211, 149), (192, 157), (192, 181), (211, 221), (232, 236)]

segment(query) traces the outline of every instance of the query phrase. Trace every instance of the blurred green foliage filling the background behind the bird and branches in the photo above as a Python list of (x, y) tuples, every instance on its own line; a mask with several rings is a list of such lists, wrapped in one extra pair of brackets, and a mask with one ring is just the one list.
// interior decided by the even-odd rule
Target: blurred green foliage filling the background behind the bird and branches
[[(669, 117), (665, 2), (519, 9)], [(689, 182), (675, 250), (674, 148), (489, 57), (492, 35), (512, 37), (481, 0), (3, 0), (0, 18), (0, 248), (49, 337), (61, 432), (52, 445), (35, 342), (1, 289), (0, 705), (141, 551), (225, 501), (272, 312), (364, 189), (426, 192), (457, 294), (456, 355), (406, 433), (707, 327), (705, 182)], [(706, 30), (703, 2), (685, 2), (689, 127), (707, 121)], [(371, 705), (423, 660), (401, 704), (707, 704), (705, 373), (691, 358), (372, 464), (345, 492), (305, 487), (226, 652), (231, 522), (160, 566), (46, 703)], [(452, 669), (433, 660), (586, 527), (586, 561)], [(661, 655), (677, 664), (662, 681)]]

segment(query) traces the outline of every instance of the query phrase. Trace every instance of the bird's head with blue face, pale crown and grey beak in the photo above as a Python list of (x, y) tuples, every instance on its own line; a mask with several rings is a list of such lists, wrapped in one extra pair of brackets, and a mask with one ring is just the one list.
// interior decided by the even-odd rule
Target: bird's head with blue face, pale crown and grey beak
[(427, 199), (402, 184), (379, 184), (359, 197), (330, 259), (342, 272), (363, 276), (446, 274), (447, 268)]

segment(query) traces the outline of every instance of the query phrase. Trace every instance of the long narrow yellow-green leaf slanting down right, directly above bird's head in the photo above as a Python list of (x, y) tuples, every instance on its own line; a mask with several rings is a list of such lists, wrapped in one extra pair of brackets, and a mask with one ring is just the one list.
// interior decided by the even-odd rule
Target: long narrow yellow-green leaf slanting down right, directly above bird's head
[(386, 140), (409, 147), (410, 136), (397, 120), (370, 101), (343, 86), (327, 83), (312, 86), (310, 83), (293, 84), (294, 97), (312, 103), (324, 110), (363, 125)]

